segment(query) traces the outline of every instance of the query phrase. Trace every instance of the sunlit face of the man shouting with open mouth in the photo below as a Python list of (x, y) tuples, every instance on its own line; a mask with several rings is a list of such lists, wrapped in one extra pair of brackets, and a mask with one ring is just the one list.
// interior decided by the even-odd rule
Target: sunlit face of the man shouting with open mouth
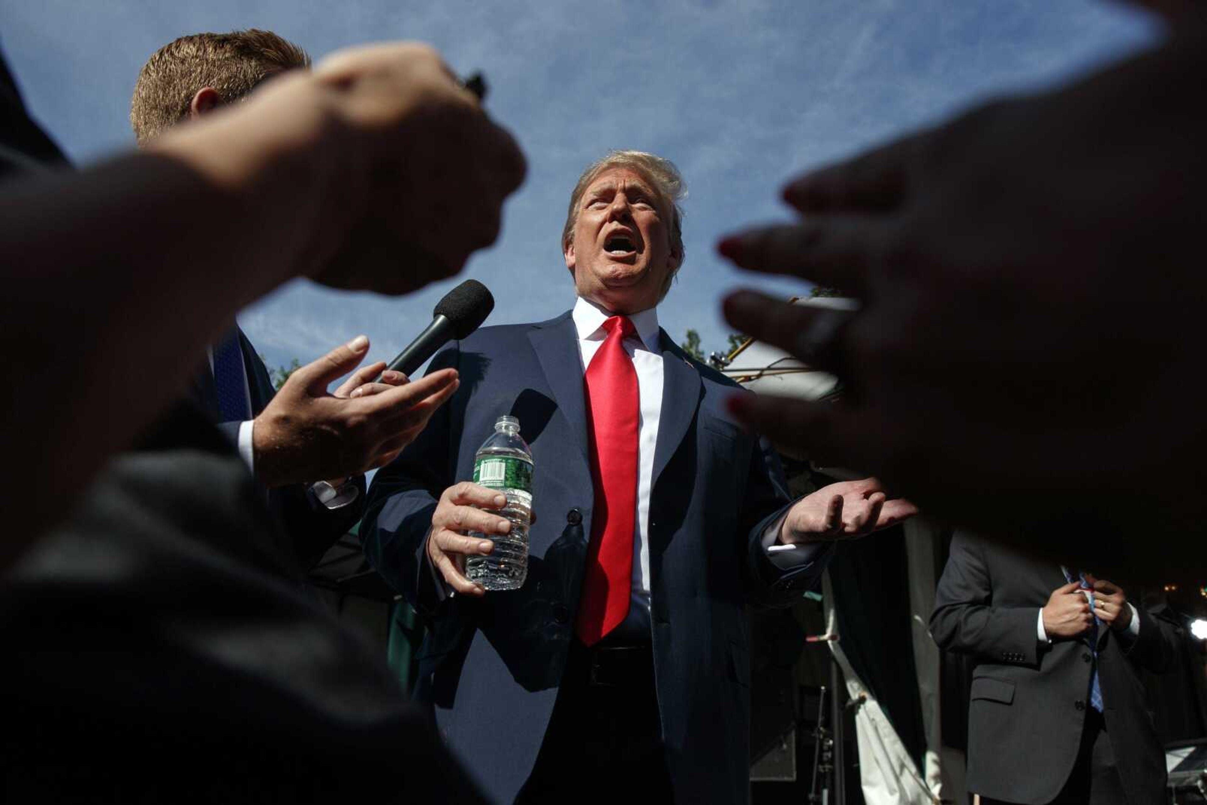
[(587, 186), (577, 212), (565, 255), (578, 296), (612, 313), (657, 305), (680, 263), (670, 204), (641, 174), (610, 168)]

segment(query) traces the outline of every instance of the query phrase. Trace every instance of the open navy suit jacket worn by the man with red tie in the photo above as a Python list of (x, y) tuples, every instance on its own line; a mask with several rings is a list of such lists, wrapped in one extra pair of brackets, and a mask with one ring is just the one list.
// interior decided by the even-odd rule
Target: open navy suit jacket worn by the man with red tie
[[(661, 333), (664, 386), (649, 508), (651, 619), (676, 799), (742, 803), (748, 788), (746, 605), (786, 605), (822, 561), (782, 572), (759, 537), (788, 496), (775, 454), (735, 425), (736, 387)], [(482, 787), (509, 801), (532, 770), (578, 608), (594, 501), (583, 368), (570, 314), (486, 327), (441, 352), (461, 387), (369, 490), (366, 555), (424, 612), (416, 695)], [(501, 414), (535, 461), (529, 574), (517, 591), (439, 601), (421, 550), (437, 496), (472, 477)]]

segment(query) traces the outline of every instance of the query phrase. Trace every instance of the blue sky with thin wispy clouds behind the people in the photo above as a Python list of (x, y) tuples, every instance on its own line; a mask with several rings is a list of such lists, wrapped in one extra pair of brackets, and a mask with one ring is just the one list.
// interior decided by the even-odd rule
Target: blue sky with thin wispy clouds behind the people
[(490, 323), (567, 309), (558, 243), (566, 200), (582, 168), (610, 148), (654, 151), (683, 171), (687, 259), (659, 317), (677, 339), (695, 327), (706, 348), (721, 348), (727, 290), (801, 290), (742, 276), (713, 251), (722, 233), (783, 218), (785, 180), (989, 94), (1067, 80), (1158, 35), (1107, 0), (0, 0), (0, 46), (27, 101), (81, 163), (130, 147), (130, 92), (157, 47), (251, 27), (315, 58), (366, 41), (428, 41), (456, 70), (485, 72), (488, 107), (530, 162), (498, 243), (461, 278), (400, 299), (297, 281), (243, 311), (270, 364), (313, 360), (361, 332), (371, 356), (387, 360), (465, 276), (495, 293)]

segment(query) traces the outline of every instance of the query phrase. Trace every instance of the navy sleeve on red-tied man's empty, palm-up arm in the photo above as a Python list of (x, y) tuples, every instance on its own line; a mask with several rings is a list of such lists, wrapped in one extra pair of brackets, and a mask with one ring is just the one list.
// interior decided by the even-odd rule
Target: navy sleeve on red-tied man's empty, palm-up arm
[(759, 439), (751, 454), (751, 467), (742, 502), (742, 524), (747, 539), (747, 597), (764, 607), (786, 607), (816, 587), (832, 553), (816, 549), (807, 561), (792, 567), (776, 566), (766, 555), (763, 536), (782, 518), (792, 502), (780, 456), (766, 439)]

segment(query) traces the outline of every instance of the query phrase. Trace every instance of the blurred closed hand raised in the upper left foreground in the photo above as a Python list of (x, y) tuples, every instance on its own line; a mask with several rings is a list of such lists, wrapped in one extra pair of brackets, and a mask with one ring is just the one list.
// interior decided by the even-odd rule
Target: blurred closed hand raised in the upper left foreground
[(291, 274), (380, 293), (460, 272), (495, 241), (525, 173), (512, 136), (414, 42), (338, 51), (147, 150), (182, 158), (260, 215), (279, 206), (295, 237), (275, 257)]

